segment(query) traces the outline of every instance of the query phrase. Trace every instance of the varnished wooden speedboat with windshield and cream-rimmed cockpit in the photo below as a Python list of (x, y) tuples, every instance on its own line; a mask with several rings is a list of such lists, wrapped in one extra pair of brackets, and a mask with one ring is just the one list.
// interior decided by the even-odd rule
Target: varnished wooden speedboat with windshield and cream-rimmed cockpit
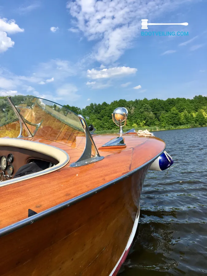
[(82, 116), (40, 98), (8, 98), (2, 110), (0, 275), (116, 275), (165, 143), (91, 134)]

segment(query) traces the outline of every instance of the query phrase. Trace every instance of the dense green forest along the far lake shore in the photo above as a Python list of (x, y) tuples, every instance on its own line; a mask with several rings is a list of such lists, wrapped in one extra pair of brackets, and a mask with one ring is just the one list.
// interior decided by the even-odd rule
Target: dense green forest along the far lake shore
[[(0, 121), (8, 121), (13, 111), (5, 103), (6, 97), (0, 97)], [(7, 102), (7, 101), (6, 101)], [(5, 105), (6, 104), (6, 105)], [(149, 131), (175, 128), (193, 128), (207, 126), (207, 97), (195, 96), (193, 99), (168, 98), (167, 100), (144, 98), (143, 100), (113, 101), (110, 104), (91, 103), (80, 109), (76, 106), (64, 105), (75, 113), (82, 114), (87, 124), (92, 124), (99, 133), (117, 131), (111, 114), (117, 107), (128, 109), (128, 120), (124, 130), (130, 128), (148, 129)], [(8, 109), (8, 111), (6, 111)], [(11, 113), (11, 114), (10, 114)]]

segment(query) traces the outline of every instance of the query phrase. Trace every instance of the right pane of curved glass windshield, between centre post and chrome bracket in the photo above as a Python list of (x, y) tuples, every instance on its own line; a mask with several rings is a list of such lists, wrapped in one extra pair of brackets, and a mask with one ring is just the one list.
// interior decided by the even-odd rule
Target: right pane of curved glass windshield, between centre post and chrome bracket
[(14, 96), (11, 101), (33, 137), (71, 140), (85, 136), (79, 117), (55, 102), (29, 96)]

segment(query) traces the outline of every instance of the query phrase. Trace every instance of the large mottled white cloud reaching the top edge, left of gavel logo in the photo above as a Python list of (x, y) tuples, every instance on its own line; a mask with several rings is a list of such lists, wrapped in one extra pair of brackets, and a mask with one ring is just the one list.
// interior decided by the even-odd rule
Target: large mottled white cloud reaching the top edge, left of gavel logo
[[(192, 0), (196, 1), (196, 0)], [(76, 0), (67, 8), (76, 27), (88, 40), (98, 40), (92, 56), (105, 63), (117, 60), (141, 29), (141, 19), (153, 20), (177, 9), (189, 0)]]

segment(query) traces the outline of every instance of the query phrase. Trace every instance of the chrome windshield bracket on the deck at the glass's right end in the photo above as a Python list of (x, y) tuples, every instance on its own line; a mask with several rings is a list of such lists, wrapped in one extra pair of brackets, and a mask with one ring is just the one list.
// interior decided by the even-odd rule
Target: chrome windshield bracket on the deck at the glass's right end
[[(98, 153), (98, 149), (96, 148), (84, 117), (82, 115), (78, 115), (78, 117), (86, 134), (86, 145), (81, 157), (75, 163), (72, 163), (70, 167), (80, 167), (104, 159), (104, 156), (100, 156)], [(94, 156), (91, 157), (91, 155)]]

